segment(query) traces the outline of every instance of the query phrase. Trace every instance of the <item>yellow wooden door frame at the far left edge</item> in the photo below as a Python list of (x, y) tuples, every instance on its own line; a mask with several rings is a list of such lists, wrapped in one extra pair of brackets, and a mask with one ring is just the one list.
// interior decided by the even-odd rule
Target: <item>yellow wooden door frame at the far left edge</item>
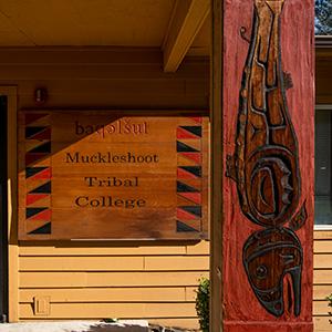
[(18, 148), (17, 148), (17, 86), (1, 86), (7, 96), (7, 195), (8, 195), (8, 318), (19, 320), (19, 247), (18, 247)]

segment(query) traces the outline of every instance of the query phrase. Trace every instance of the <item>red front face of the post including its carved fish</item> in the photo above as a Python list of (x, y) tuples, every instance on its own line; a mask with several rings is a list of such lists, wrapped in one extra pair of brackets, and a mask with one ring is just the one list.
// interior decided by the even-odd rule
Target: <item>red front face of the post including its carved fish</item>
[(224, 331), (309, 332), (313, 1), (227, 0), (222, 14)]

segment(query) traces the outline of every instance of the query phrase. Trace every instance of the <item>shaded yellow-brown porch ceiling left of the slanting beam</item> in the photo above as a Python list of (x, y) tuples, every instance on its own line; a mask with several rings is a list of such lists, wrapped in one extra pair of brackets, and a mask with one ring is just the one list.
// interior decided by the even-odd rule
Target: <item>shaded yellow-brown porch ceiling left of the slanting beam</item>
[(0, 0), (0, 46), (160, 46), (175, 0)]

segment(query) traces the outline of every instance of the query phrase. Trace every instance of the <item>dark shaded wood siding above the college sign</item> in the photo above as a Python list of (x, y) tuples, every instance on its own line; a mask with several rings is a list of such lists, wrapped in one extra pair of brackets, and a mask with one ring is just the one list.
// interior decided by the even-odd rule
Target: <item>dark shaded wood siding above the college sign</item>
[(19, 86), (20, 108), (35, 107), (37, 87), (49, 108), (208, 108), (208, 61), (164, 73), (158, 50), (3, 49), (0, 72), (0, 84)]

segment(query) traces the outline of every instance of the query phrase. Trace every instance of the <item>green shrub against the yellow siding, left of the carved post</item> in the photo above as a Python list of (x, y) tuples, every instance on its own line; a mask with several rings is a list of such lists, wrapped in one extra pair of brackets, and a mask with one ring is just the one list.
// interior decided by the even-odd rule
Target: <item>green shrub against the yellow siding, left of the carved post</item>
[(196, 312), (199, 319), (200, 330), (209, 331), (209, 300), (210, 300), (210, 281), (207, 278), (199, 279), (196, 291)]

